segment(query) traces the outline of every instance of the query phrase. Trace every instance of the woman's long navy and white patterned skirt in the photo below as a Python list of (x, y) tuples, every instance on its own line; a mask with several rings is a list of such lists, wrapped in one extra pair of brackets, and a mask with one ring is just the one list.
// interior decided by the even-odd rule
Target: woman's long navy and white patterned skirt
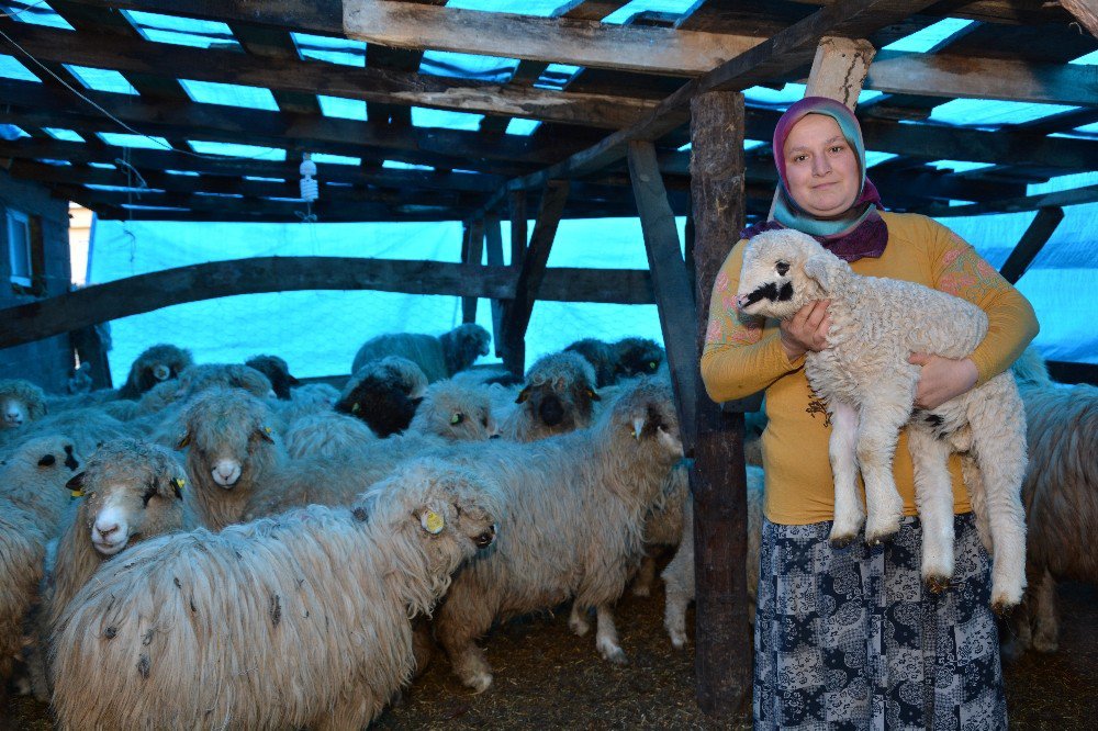
[(953, 584), (919, 575), (922, 530), (832, 549), (830, 522), (763, 521), (754, 632), (755, 729), (1007, 728), (990, 560), (954, 518)]

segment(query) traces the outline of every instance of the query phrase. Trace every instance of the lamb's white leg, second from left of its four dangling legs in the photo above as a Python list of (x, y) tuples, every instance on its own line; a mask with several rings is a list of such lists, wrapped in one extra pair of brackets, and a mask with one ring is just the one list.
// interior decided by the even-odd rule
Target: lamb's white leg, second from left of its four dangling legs
[[(914, 387), (914, 384), (912, 384)], [(892, 384), (881, 386), (888, 398), (862, 404), (858, 425), (858, 463), (865, 483), (865, 541), (881, 543), (899, 531), (904, 501), (893, 479), (893, 457), (899, 430), (911, 415), (911, 398), (894, 392)]]

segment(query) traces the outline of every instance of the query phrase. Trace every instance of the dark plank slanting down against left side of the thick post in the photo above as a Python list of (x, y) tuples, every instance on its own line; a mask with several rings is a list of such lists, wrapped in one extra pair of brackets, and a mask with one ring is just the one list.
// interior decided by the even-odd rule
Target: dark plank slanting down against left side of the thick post
[(671, 384), (679, 409), (683, 447), (692, 453), (695, 442), (697, 404), (697, 344), (694, 340), (695, 310), (686, 265), (679, 243), (675, 216), (668, 204), (656, 148), (651, 143), (629, 144), (629, 177), (637, 213), (645, 236), (648, 270), (652, 274), (659, 304), (660, 329), (671, 368)]

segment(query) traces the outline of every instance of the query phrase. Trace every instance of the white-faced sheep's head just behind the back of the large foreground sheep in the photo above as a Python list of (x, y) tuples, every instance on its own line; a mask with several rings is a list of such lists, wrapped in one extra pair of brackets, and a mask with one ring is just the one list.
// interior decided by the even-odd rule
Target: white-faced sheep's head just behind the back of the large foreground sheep
[(115, 439), (96, 450), (66, 486), (85, 497), (80, 515), (91, 544), (111, 556), (131, 541), (182, 528), (186, 482), (167, 449)]

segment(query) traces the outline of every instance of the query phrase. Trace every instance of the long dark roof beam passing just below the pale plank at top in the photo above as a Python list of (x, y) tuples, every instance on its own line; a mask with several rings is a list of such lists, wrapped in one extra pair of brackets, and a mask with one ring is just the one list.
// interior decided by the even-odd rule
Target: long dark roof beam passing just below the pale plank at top
[[(264, 87), (274, 92), (277, 99), (279, 94), (289, 94), (288, 99), (299, 102), (303, 97), (315, 100), (314, 94), (320, 93), (370, 103), (429, 106), (606, 128), (627, 126), (656, 105), (653, 100), (619, 94), (550, 91), (383, 68), (354, 68), (301, 60), (296, 56), (253, 58), (231, 49), (190, 48), (127, 38), (112, 41), (109, 45), (90, 44), (81, 34), (26, 23), (18, 25), (11, 35), (41, 60), (166, 77), (175, 77), (180, 69), (187, 69), (190, 79)], [(245, 37), (254, 35), (248, 33)], [(288, 106), (283, 101), (279, 102), (283, 111), (303, 112), (300, 104)]]

